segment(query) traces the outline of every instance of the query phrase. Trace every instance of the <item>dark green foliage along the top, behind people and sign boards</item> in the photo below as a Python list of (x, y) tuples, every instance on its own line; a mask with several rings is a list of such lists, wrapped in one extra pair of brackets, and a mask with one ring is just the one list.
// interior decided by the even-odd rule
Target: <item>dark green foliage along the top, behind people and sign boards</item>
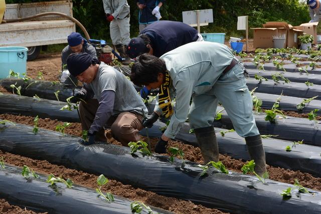
[[(30, 2), (45, 1), (6, 0), (7, 4)], [(85, 26), (90, 37), (110, 41), (109, 23), (105, 20), (102, 0), (72, 2), (74, 17)], [(130, 34), (135, 37), (138, 34), (138, 9), (135, 0), (127, 2), (130, 5)], [(249, 16), (249, 28), (262, 27), (268, 21), (284, 21), (297, 26), (310, 20), (306, 4), (299, 3), (299, 0), (167, 0), (161, 14), (163, 20), (182, 22), (183, 11), (203, 9), (213, 9), (214, 23), (201, 27), (201, 33), (226, 33), (226, 38), (245, 36), (245, 31), (236, 30), (238, 16)]]

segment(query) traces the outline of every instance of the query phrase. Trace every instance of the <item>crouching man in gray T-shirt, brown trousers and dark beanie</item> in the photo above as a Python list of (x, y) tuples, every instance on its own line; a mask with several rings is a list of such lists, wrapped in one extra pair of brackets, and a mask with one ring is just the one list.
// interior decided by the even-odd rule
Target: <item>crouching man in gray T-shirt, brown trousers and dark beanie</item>
[(79, 113), (83, 130), (88, 130), (88, 143), (106, 141), (104, 127), (122, 145), (140, 140), (143, 115), (147, 109), (132, 83), (120, 72), (87, 53), (72, 54), (67, 59), (70, 73), (84, 83), (72, 102), (80, 101)]

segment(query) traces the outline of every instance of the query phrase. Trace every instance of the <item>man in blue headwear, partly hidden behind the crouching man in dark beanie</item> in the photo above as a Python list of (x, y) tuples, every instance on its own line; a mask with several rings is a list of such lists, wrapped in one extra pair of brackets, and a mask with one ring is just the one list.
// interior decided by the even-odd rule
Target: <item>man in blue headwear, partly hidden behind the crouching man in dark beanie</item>
[[(64, 72), (64, 70), (68, 70), (67, 58), (72, 53), (88, 53), (91, 55), (91, 57), (97, 59), (95, 48), (92, 45), (88, 44), (87, 40), (85, 40), (79, 33), (71, 33), (68, 36), (67, 41), (68, 45), (61, 52), (61, 71)], [(60, 82), (68, 85), (73, 85), (73, 83), (71, 82), (72, 80), (75, 84), (77, 84), (77, 79), (69, 75), (69, 72), (63, 74), (60, 78)], [(69, 79), (69, 77), (71, 78), (71, 80)]]

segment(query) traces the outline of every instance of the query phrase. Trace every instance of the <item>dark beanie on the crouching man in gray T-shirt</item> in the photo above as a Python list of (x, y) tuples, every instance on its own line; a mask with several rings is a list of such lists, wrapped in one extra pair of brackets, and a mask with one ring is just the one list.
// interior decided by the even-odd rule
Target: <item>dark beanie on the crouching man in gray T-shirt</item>
[(74, 53), (67, 58), (68, 71), (74, 77), (87, 70), (92, 63), (92, 57), (87, 53)]

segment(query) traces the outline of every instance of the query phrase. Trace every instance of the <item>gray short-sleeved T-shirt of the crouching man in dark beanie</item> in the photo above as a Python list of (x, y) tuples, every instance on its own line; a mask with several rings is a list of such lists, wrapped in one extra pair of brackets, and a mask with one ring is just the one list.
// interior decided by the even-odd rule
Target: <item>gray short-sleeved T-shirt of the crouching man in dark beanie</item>
[(96, 78), (87, 84), (94, 92), (94, 99), (100, 100), (101, 93), (105, 90), (115, 92), (115, 101), (112, 115), (118, 115), (122, 112), (141, 113), (145, 114), (148, 110), (142, 101), (141, 97), (136, 92), (133, 84), (125, 75), (114, 69), (113, 67), (101, 62), (98, 68)]

